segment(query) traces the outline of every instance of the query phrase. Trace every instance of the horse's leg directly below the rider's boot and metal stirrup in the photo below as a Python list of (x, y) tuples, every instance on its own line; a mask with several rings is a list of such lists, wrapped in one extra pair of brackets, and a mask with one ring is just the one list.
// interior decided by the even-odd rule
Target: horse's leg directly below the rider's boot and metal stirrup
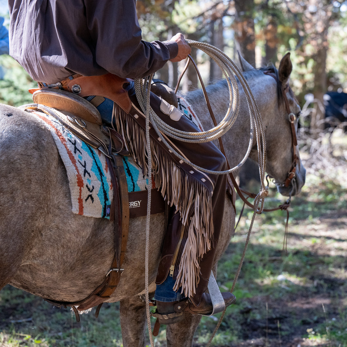
[(184, 315), (184, 320), (167, 325), (166, 340), (168, 347), (192, 347), (194, 333), (202, 316), (190, 313), (184, 313)]

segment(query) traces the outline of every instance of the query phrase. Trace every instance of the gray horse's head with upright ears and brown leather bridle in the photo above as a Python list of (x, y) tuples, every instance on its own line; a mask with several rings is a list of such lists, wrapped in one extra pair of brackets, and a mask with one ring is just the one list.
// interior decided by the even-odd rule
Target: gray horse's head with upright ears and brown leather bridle
[[(240, 61), (245, 72), (256, 70), (242, 57)], [(256, 70), (258, 77), (250, 81), (252, 91), (253, 87), (262, 89), (256, 94), (261, 95), (257, 103), (265, 131), (266, 171), (276, 182), (278, 191), (285, 196), (301, 191), (306, 174), (296, 142), (301, 108), (289, 86), (292, 68), (290, 53), (287, 53), (278, 70), (274, 66), (261, 68)], [(254, 155), (255, 151), (251, 152), (251, 157), (256, 159)]]

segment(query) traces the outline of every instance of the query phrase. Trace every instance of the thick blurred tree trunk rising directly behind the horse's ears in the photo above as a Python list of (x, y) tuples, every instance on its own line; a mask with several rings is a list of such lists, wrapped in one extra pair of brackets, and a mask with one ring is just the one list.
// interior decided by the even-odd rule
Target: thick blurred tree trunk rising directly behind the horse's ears
[(254, 0), (234, 0), (234, 3), (236, 12), (232, 26), (235, 31), (236, 49), (249, 64), (255, 66)]

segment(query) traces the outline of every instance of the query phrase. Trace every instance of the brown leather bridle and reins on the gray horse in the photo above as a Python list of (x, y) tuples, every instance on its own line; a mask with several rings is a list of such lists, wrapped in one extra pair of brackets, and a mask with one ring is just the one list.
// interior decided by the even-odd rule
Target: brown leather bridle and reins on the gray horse
[[(200, 75), (200, 71), (198, 70), (196, 64), (195, 64), (195, 61), (193, 60), (193, 58), (191, 57), (191, 55), (189, 54), (188, 55), (188, 60), (187, 60), (187, 63), (181, 73), (181, 75), (179, 76), (178, 78), (178, 82), (177, 82), (177, 85), (176, 85), (176, 88), (175, 88), (175, 93), (177, 93), (178, 91), (178, 87), (179, 87), (179, 84), (181, 82), (181, 79), (183, 77), (183, 75), (185, 74), (185, 72), (187, 71), (187, 68), (188, 68), (188, 65), (189, 65), (189, 62), (191, 62), (196, 70), (196, 73), (197, 73), (197, 76), (199, 78), (199, 81), (201, 83), (201, 88), (202, 88), (202, 91), (203, 91), (203, 94), (204, 94), (204, 97), (205, 97), (205, 101), (206, 101), (206, 105), (207, 105), (207, 108), (209, 110), (209, 113), (210, 113), (210, 116), (211, 116), (211, 119), (213, 121), (213, 124), (214, 126), (217, 126), (217, 121), (214, 117), (214, 113), (212, 111), (212, 107), (211, 107), (211, 104), (210, 104), (210, 101), (209, 101), (209, 97), (208, 97), (208, 94), (206, 92), (206, 88), (205, 88), (205, 85), (202, 81), (202, 77)], [(276, 81), (276, 83), (278, 82), (277, 81), (277, 77), (276, 77), (276, 74), (273, 73), (273, 71), (270, 71), (270, 70), (267, 70), (267, 71), (264, 71), (264, 74), (265, 75), (269, 75), (271, 77), (273, 77)], [(296, 138), (296, 131), (295, 131), (295, 120), (296, 120), (296, 117), (294, 115), (293, 112), (290, 112), (290, 108), (289, 108), (289, 101), (288, 101), (288, 98), (287, 98), (287, 95), (285, 93), (285, 91), (289, 88), (289, 84), (286, 85), (285, 88), (282, 88), (282, 95), (283, 95), (283, 99), (285, 101), (285, 105), (286, 105), (286, 111), (288, 113), (288, 120), (289, 120), (289, 125), (290, 125), (290, 132), (291, 132), (291, 146), (292, 146), (292, 149), (293, 149), (293, 161), (292, 161), (292, 165), (291, 165), (291, 168), (287, 174), (287, 178), (286, 180), (284, 181), (284, 183), (282, 184), (277, 184), (276, 185), (279, 185), (279, 186), (284, 186), (284, 187), (288, 187), (289, 184), (291, 183), (291, 180), (293, 180), (295, 178), (295, 172), (296, 172), (296, 165), (297, 165), (297, 162), (299, 160), (298, 156), (296, 155), (296, 145), (297, 145), (297, 138)], [(221, 152), (223, 153), (223, 155), (226, 157), (226, 153), (225, 153), (225, 150), (224, 150), (224, 146), (223, 146), (223, 142), (222, 142), (222, 138), (219, 137), (218, 138), (218, 141), (219, 141), (219, 146), (220, 146), (220, 149), (221, 149)], [(228, 159), (227, 159), (227, 167), (228, 167), (228, 170), (230, 169), (230, 165), (229, 165), (229, 162), (228, 162)], [(251, 204), (247, 198), (244, 196), (244, 194), (248, 195), (248, 197), (252, 197), (252, 198), (255, 198), (256, 194), (254, 193), (249, 193), (247, 191), (245, 191), (244, 189), (240, 188), (235, 180), (235, 177), (234, 175), (230, 172), (229, 175), (228, 175), (228, 183), (230, 184), (230, 181), (232, 182), (232, 185), (234, 185), (235, 189), (236, 189), (236, 192), (237, 194), (240, 196), (240, 198), (242, 199), (242, 201), (244, 202), (244, 204), (246, 204), (247, 206), (251, 207), (252, 209), (254, 208), (253, 204)], [(277, 211), (277, 210), (286, 210), (287, 211), (287, 225), (288, 225), (288, 207), (290, 206), (290, 198), (291, 196), (289, 196), (288, 200), (279, 205), (277, 208), (273, 208), (273, 209), (263, 209), (264, 212), (271, 212), (271, 211)], [(243, 211), (243, 209), (242, 209)], [(241, 212), (241, 215), (242, 215), (242, 212)], [(241, 217), (240, 215), (240, 217)], [(237, 225), (236, 225), (237, 226)], [(235, 227), (236, 228), (236, 227)]]

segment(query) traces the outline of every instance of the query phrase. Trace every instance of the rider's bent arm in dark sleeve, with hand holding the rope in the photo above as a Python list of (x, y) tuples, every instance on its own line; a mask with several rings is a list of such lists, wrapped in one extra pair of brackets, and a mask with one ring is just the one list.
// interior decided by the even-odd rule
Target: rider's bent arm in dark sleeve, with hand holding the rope
[(134, 0), (87, 0), (86, 7), (87, 25), (96, 42), (96, 62), (110, 73), (144, 77), (168, 60), (185, 59), (190, 52), (181, 34), (170, 41), (143, 41)]

